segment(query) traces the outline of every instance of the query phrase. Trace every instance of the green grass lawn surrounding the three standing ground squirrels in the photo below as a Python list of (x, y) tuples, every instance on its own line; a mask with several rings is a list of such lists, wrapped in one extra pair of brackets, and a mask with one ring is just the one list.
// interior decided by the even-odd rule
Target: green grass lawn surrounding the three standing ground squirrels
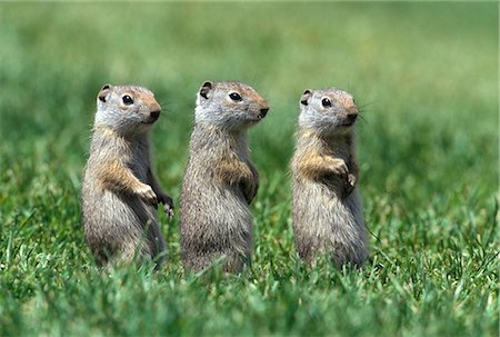
[[(496, 336), (498, 3), (0, 3), (0, 336)], [(271, 110), (251, 132), (252, 267), (101, 275), (81, 171), (98, 89), (152, 89), (156, 170), (179, 205), (194, 93), (238, 79)], [(362, 106), (362, 270), (297, 259), (288, 165), (306, 88)]]

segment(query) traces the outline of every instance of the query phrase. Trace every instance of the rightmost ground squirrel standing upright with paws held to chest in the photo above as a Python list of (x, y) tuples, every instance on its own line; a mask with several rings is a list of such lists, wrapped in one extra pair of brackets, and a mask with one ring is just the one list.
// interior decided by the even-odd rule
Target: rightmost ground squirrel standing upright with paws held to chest
[(339, 89), (306, 90), (292, 159), (293, 234), (299, 256), (313, 262), (318, 251), (337, 266), (361, 266), (367, 230), (356, 182), (353, 123), (358, 108)]

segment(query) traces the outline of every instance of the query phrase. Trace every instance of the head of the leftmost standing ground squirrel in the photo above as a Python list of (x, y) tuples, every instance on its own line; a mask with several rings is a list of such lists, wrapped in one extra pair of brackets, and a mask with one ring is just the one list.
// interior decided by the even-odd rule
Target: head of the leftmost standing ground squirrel
[(104, 85), (97, 96), (96, 126), (121, 135), (140, 135), (158, 120), (161, 107), (142, 87)]

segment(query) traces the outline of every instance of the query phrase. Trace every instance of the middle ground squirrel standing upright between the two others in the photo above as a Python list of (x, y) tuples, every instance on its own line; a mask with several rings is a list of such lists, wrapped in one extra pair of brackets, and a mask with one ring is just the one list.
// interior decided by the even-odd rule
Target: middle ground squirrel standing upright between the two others
[(226, 271), (241, 270), (249, 261), (249, 205), (259, 178), (249, 159), (247, 130), (268, 110), (268, 102), (247, 85), (207, 81), (201, 86), (180, 204), (187, 270), (200, 270), (221, 256), (226, 256)]

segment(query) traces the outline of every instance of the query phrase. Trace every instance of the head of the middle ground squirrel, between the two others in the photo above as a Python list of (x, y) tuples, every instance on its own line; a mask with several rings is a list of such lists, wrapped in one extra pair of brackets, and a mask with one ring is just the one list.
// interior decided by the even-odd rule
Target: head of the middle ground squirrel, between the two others
[(268, 102), (250, 86), (206, 81), (197, 95), (194, 121), (239, 131), (258, 123), (268, 110)]

